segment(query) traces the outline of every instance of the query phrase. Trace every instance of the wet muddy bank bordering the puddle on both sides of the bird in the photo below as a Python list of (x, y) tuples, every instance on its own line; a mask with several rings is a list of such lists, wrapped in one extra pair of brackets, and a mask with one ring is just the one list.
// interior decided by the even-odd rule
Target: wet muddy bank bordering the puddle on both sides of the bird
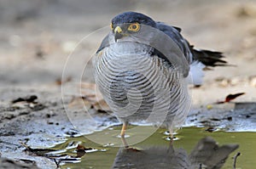
[[(70, 120), (64, 105), (68, 106), (73, 98), (70, 97), (69, 102), (62, 103), (58, 87), (51, 92), (4, 88), (1, 96), (3, 106), (0, 109), (0, 150), (2, 157), (15, 159), (15, 161), (29, 161), (28, 163), (36, 164), (40, 168), (55, 168), (55, 161), (32, 154), (22, 144), (32, 148), (50, 148), (55, 144), (64, 143), (67, 137), (78, 137), (84, 133), (100, 131), (119, 124), (115, 117), (102, 110), (97, 111), (93, 106), (90, 106), (87, 112), (83, 108), (68, 110), (69, 116), (72, 117)], [(35, 96), (38, 99), (30, 100)], [(12, 103), (14, 101), (15, 103)], [(213, 106), (211, 110), (193, 110), (185, 126), (212, 127), (212, 131), (216, 129), (255, 131), (255, 103), (236, 103), (234, 108), (227, 105), (221, 106)], [(89, 120), (84, 119), (84, 114), (90, 115)], [(248, 123), (250, 125), (247, 125)]]

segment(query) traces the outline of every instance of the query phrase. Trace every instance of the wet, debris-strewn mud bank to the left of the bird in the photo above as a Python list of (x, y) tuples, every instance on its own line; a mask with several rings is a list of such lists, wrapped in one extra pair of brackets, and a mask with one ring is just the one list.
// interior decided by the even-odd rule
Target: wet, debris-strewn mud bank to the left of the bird
[[(75, 126), (83, 127), (79, 131), (68, 119), (61, 99), (61, 88), (56, 87), (51, 92), (37, 92), (32, 88), (1, 89), (1, 123), (0, 152), (2, 157), (11, 157), (16, 161), (32, 161), (40, 168), (55, 168), (55, 162), (48, 158), (33, 155), (26, 151), (26, 144), (31, 148), (49, 148), (61, 144), (66, 137), (77, 137), (82, 133), (108, 127), (115, 118), (107, 113), (96, 113), (90, 110), (90, 115), (96, 117), (98, 125), (92, 126), (84, 119), (83, 109), (69, 111)], [(35, 99), (36, 98), (36, 99)], [(72, 97), (70, 97), (70, 101)], [(88, 122), (86, 122), (88, 121)]]

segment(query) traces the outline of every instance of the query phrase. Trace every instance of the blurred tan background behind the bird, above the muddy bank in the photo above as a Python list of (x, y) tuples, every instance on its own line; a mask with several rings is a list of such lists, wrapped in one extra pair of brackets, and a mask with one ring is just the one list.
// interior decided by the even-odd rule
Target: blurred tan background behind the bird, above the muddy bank
[[(1, 86), (38, 86), (60, 79), (77, 42), (127, 10), (181, 27), (183, 36), (196, 48), (224, 52), (226, 60), (236, 67), (207, 71), (207, 83), (256, 86), (253, 0), (0, 0)], [(86, 51), (96, 50), (103, 37), (84, 40), (86, 44), (77, 49), (74, 62), (90, 57)], [(68, 76), (75, 78), (80, 73), (73, 68)], [(84, 76), (85, 81), (92, 79), (90, 73)]]

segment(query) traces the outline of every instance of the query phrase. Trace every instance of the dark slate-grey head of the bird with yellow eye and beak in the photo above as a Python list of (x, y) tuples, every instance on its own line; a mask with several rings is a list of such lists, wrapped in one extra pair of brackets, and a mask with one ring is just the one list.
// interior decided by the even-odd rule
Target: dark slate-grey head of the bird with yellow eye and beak
[(111, 21), (111, 29), (114, 33), (115, 41), (122, 37), (127, 37), (140, 31), (141, 25), (155, 27), (154, 20), (145, 14), (137, 12), (125, 12), (118, 14)]

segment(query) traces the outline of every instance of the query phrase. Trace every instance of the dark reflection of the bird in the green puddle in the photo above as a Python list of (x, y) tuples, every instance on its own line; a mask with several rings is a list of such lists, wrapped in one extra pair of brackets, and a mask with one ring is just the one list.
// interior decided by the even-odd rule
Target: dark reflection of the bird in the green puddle
[(184, 149), (151, 147), (149, 149), (120, 148), (113, 162), (113, 168), (187, 168), (218, 169), (224, 166), (230, 153), (238, 144), (218, 146), (210, 137), (202, 138), (190, 155)]

